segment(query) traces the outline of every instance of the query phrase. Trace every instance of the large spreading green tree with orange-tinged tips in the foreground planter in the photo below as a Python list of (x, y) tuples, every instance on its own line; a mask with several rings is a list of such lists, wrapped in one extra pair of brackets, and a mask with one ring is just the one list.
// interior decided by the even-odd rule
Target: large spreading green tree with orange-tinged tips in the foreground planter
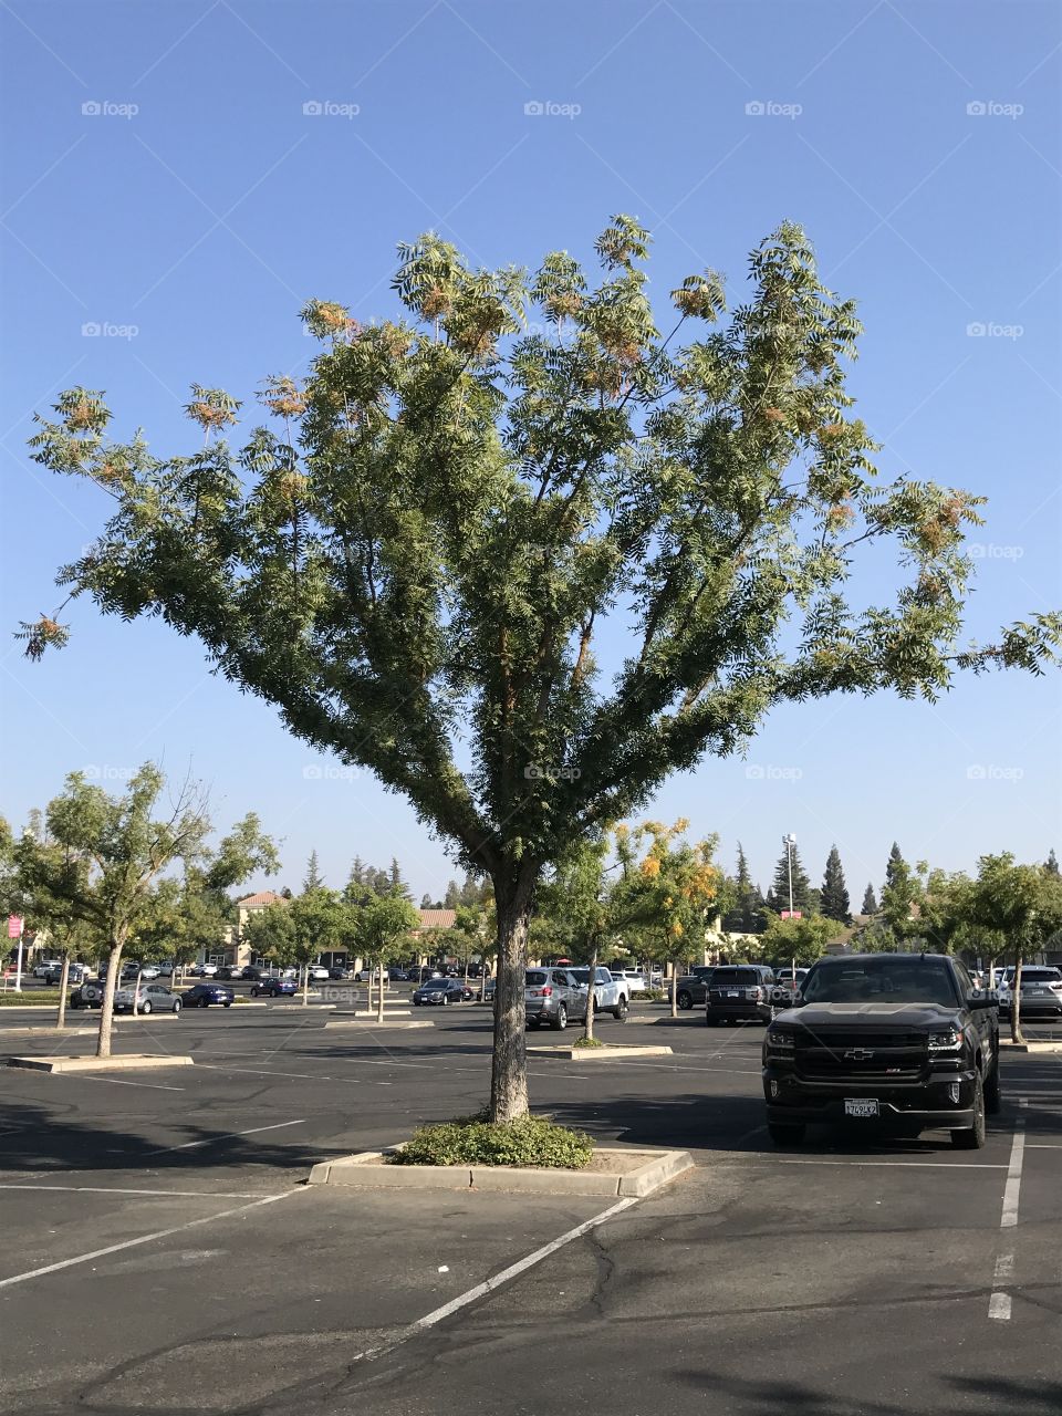
[[(716, 275), (681, 280), (666, 334), (649, 234), (616, 217), (596, 251), (595, 280), (566, 252), (527, 273), (472, 270), (438, 235), (401, 246), (402, 319), (310, 302), (309, 381), (268, 379), (276, 429), (239, 449), (222, 436), (239, 401), (200, 385), (190, 452), (113, 440), (85, 388), (33, 439), (113, 500), (61, 573), (71, 593), (198, 636), (490, 877), (494, 1119), (527, 1110), (523, 969), (548, 862), (742, 748), (776, 704), (1039, 671), (1062, 627), (1035, 616), (960, 647), (980, 498), (875, 477), (845, 389), (861, 326), (799, 227), (752, 252), (728, 317)], [(850, 602), (857, 572), (891, 582), (879, 603)], [(59, 616), (23, 627), (27, 653), (65, 643)]]

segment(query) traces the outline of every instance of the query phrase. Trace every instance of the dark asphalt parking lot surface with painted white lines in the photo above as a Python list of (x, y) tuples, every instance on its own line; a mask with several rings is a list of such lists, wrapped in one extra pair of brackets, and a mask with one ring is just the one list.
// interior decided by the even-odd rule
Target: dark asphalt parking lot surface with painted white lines
[[(195, 1066), (0, 1073), (6, 1412), (1062, 1409), (1062, 1058), (1007, 1058), (983, 1151), (823, 1131), (777, 1153), (762, 1029), (603, 1020), (675, 1055), (535, 1061), (535, 1107), (698, 1168), (583, 1228), (605, 1202), (307, 1189), (314, 1161), (473, 1110), (489, 1079), (480, 1008), (327, 1017), (144, 1020), (118, 1051)], [(14, 1024), (0, 1054), (52, 1049)]]

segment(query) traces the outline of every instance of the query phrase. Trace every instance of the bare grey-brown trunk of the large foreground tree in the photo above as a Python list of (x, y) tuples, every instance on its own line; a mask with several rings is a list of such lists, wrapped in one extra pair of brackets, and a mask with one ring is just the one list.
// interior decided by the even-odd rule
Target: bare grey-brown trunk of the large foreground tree
[(490, 1119), (527, 1116), (527, 1008), (524, 969), (537, 868), (494, 881), (498, 916), (498, 967), (494, 980), (494, 1054), (490, 1068)]

